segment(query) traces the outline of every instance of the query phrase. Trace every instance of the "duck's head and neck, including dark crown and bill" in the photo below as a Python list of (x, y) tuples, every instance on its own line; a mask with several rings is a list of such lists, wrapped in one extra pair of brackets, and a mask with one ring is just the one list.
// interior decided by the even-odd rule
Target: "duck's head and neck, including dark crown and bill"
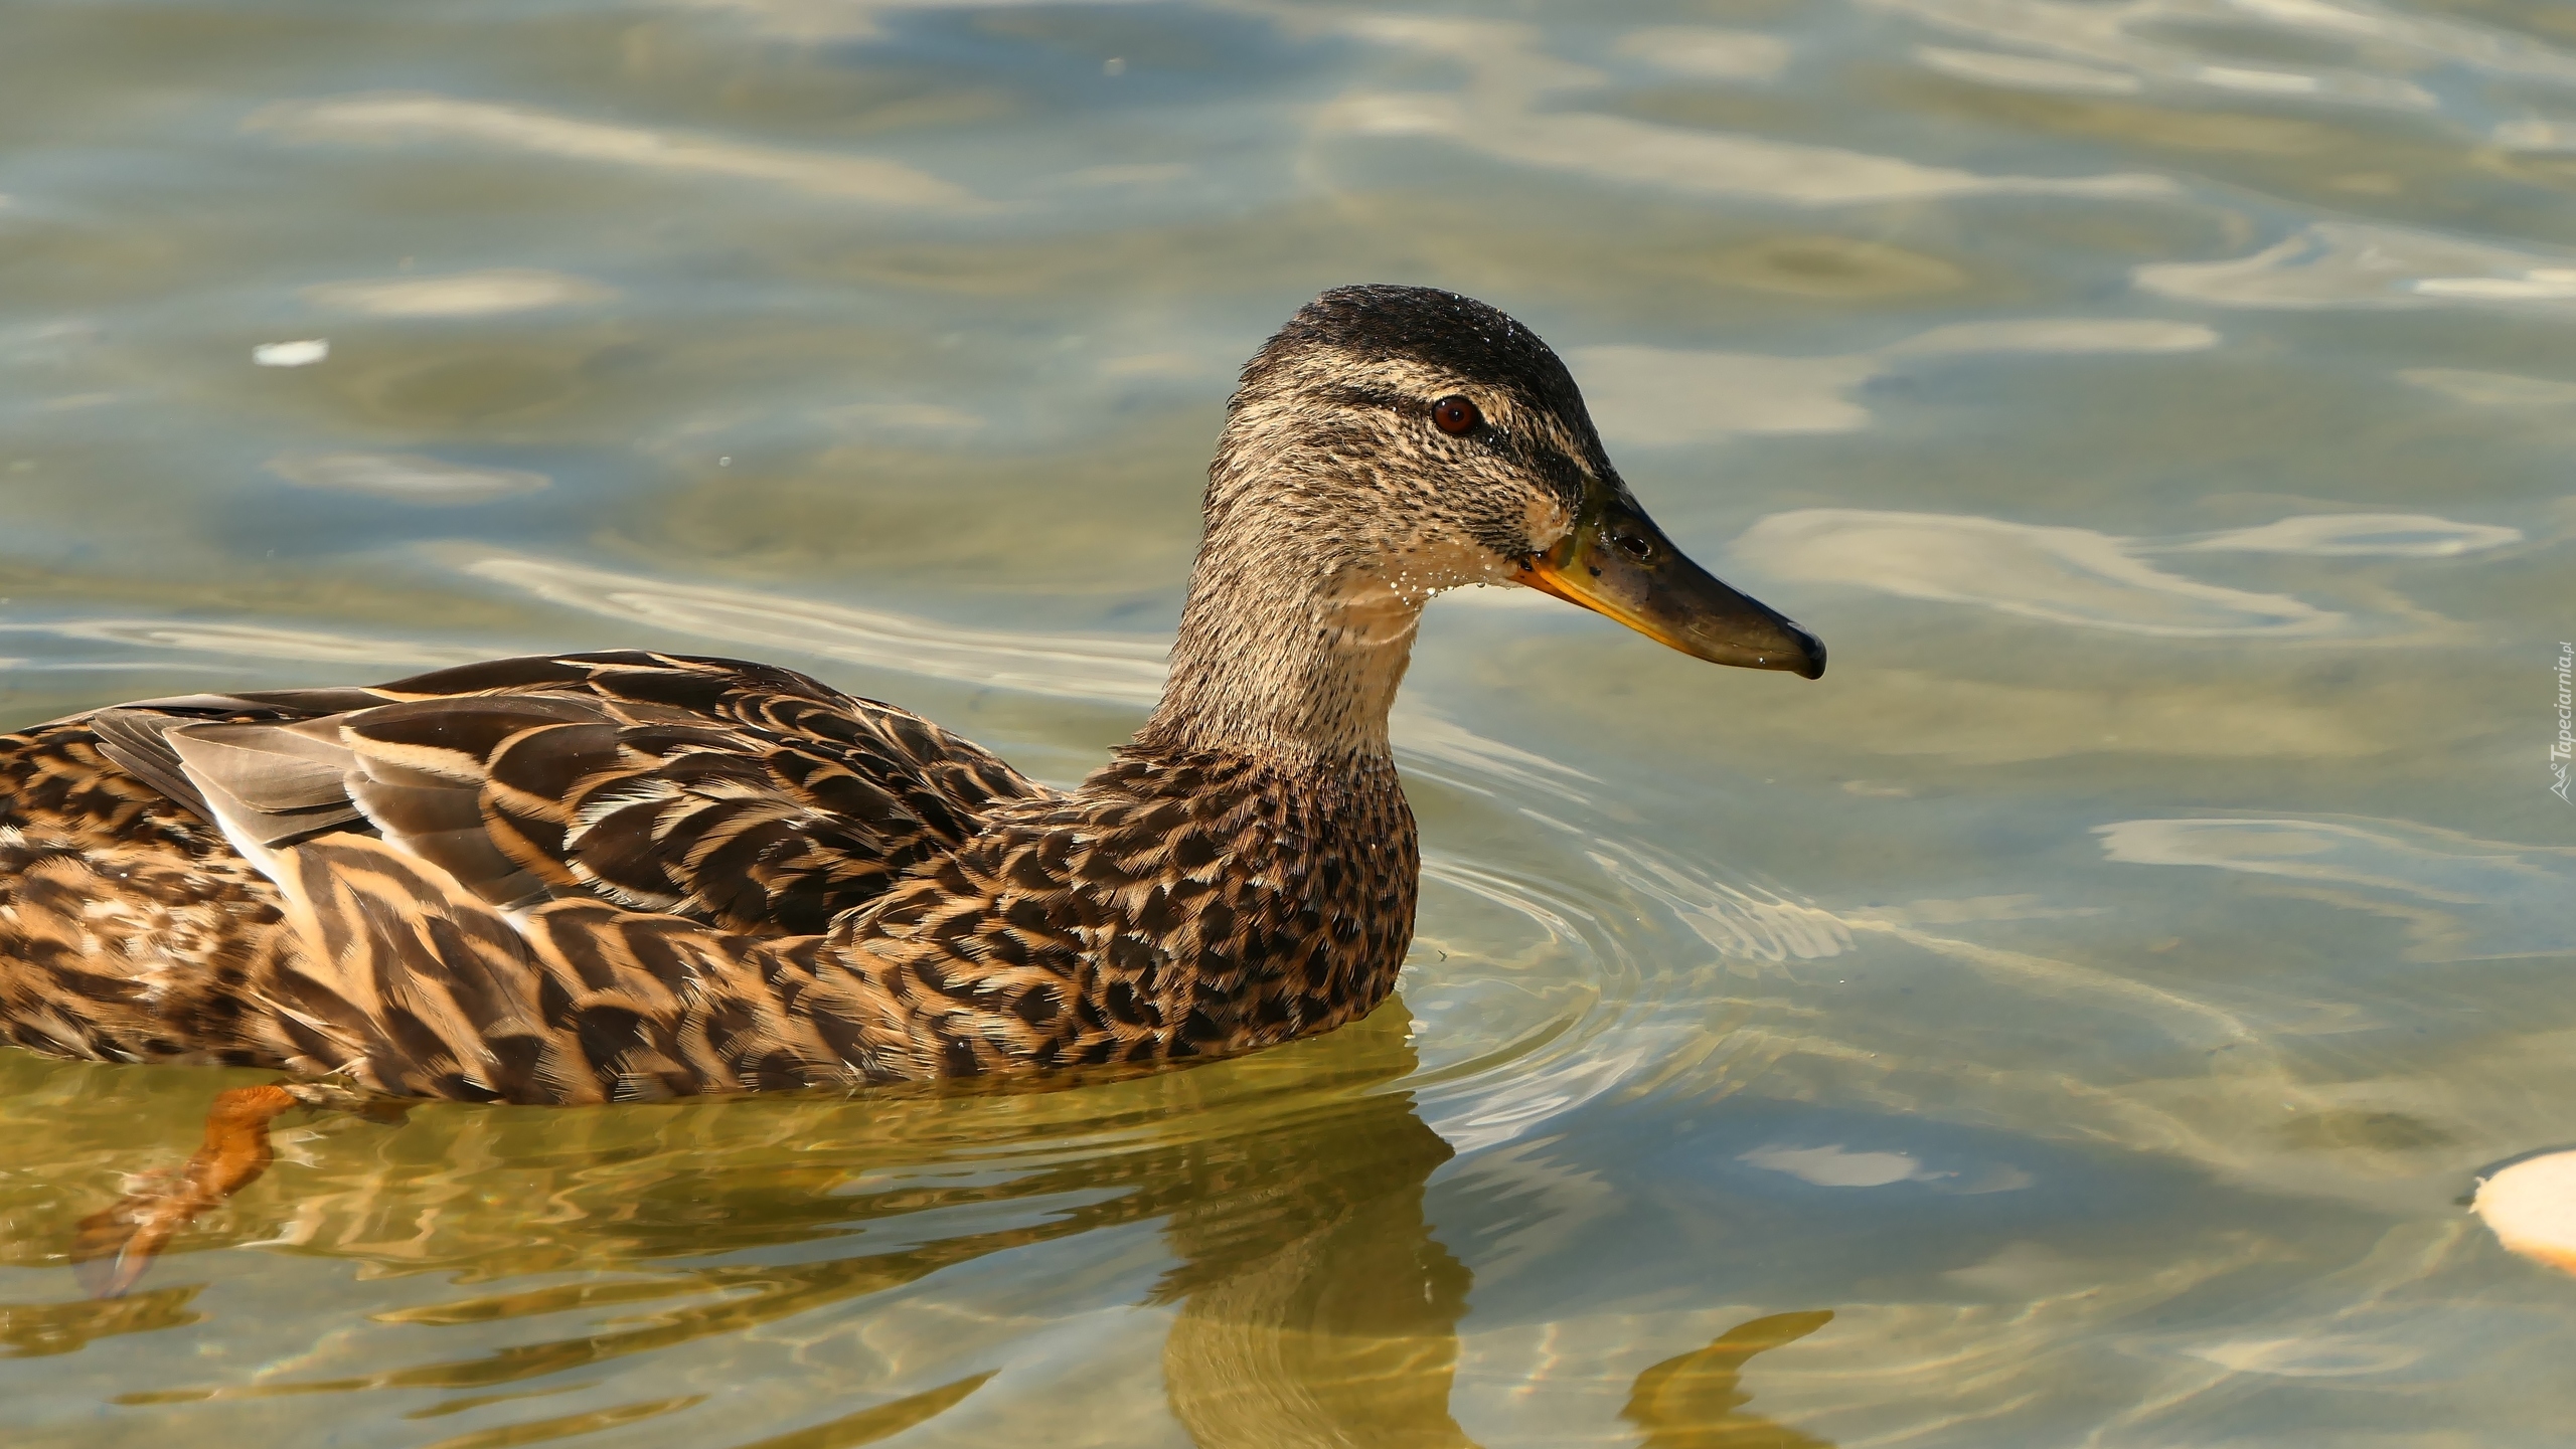
[(1448, 291), (1345, 286), (1244, 365), (1157, 723), (1383, 749), (1422, 602), (1520, 584), (1749, 669), (1824, 643), (1664, 538), (1528, 327)]

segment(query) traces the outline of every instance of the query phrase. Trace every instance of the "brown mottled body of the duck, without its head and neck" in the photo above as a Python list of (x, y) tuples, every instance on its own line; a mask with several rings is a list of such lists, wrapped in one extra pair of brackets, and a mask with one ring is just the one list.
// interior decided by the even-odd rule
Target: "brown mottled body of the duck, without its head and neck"
[(1059, 795), (786, 669), (510, 659), (0, 739), (0, 1017), (507, 1102), (1190, 1058), (1373, 1009), (1414, 872), (1383, 759)]

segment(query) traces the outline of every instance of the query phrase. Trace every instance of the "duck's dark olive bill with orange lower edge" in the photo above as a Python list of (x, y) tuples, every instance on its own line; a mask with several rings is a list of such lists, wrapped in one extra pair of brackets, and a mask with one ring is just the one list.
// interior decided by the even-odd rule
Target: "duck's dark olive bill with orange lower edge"
[(1520, 561), (1520, 582), (1667, 643), (1744, 669), (1824, 674), (1824, 641), (1700, 569), (1625, 497), (1587, 499), (1574, 530)]

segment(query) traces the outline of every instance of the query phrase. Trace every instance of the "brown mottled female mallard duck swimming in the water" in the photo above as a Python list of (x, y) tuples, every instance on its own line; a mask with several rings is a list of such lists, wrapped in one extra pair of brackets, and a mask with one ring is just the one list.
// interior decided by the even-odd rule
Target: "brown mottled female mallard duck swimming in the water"
[(1162, 705), (1077, 790), (672, 654), (118, 705), (0, 736), (0, 1029), (469, 1102), (1327, 1032), (1412, 937), (1386, 710), (1422, 602), (1461, 584), (1824, 672), (1664, 540), (1528, 327), (1337, 288), (1244, 368)]

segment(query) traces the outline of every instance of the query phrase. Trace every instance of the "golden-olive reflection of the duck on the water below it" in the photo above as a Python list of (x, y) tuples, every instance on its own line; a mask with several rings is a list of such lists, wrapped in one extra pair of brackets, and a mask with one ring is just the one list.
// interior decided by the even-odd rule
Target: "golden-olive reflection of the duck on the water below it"
[[(1195, 1444), (1466, 1446), (1473, 1439), (1450, 1413), (1450, 1387), (1473, 1274), (1425, 1217), (1430, 1176), (1453, 1153), (1399, 1086), (1417, 1066), (1409, 1027), (1399, 1001), (1278, 1053), (1077, 1091), (613, 1112), (438, 1107), (392, 1127), (394, 1138), (430, 1138), (399, 1150), (386, 1127), (335, 1122), (312, 1161), (276, 1168), (265, 1186), (183, 1233), (175, 1261), (155, 1277), (175, 1277), (193, 1248), (265, 1241), (273, 1251), (358, 1259), (374, 1274), (546, 1279), (368, 1313), (358, 1333), (374, 1323), (417, 1333), (544, 1315), (580, 1328), (363, 1377), (175, 1385), (131, 1400), (366, 1390), (489, 1400), (495, 1390), (536, 1390), (536, 1380), (598, 1372), (634, 1354), (762, 1338), (765, 1325), (788, 1318), (891, 1320), (920, 1297), (904, 1289), (943, 1269), (1164, 1220), (1175, 1264), (1146, 1302), (1177, 1305), (1162, 1382)], [(531, 1220), (513, 1207), (528, 1202), (549, 1212)], [(940, 1233), (943, 1217), (971, 1228)], [(832, 1241), (850, 1251), (814, 1253), (814, 1243)], [(564, 1282), (567, 1271), (580, 1277)], [(196, 1292), (152, 1287), (126, 1300), (0, 1307), (0, 1338), (21, 1351), (62, 1351), (93, 1336), (191, 1331)], [(1757, 1318), (1677, 1351), (1638, 1374), (1625, 1423), (1651, 1449), (1821, 1444), (1744, 1413), (1739, 1372), (1829, 1318)], [(974, 1372), (775, 1441), (747, 1436), (739, 1449), (866, 1444), (951, 1408), (971, 1413), (979, 1398), (1018, 1421), (1018, 1405), (979, 1392), (999, 1361), (976, 1361), (974, 1346), (930, 1349), (933, 1361)]]

